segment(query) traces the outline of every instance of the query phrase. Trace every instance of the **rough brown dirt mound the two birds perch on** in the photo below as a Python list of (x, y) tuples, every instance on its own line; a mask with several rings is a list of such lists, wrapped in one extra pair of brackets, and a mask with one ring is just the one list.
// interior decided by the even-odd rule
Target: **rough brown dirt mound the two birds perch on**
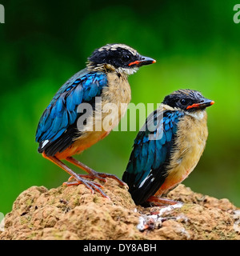
[[(111, 198), (90, 194), (85, 186), (47, 190), (32, 186), (6, 214), (0, 239), (239, 239), (240, 211), (179, 185), (168, 194), (174, 206), (135, 206), (125, 187), (107, 179)], [(180, 203), (183, 202), (183, 203)]]

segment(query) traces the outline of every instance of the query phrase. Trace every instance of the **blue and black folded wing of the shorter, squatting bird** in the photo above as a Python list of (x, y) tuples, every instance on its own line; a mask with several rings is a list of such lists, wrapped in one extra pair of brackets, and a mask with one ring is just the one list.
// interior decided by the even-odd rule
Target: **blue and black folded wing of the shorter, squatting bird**
[(140, 130), (122, 180), (129, 186), (136, 204), (154, 195), (166, 179), (166, 165), (174, 146), (181, 111), (157, 111), (147, 119), (145, 131)]

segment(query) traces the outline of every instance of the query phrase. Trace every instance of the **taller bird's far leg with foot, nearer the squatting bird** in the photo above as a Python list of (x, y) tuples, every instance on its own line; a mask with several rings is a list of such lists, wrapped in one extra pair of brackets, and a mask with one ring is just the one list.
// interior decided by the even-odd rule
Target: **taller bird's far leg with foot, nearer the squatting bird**
[(104, 174), (104, 173), (98, 173), (97, 171), (91, 169), (90, 167), (86, 166), (82, 162), (79, 162), (78, 160), (67, 157), (66, 161), (74, 164), (75, 166), (78, 166), (82, 170), (85, 170), (88, 174), (90, 174), (90, 178), (98, 178), (100, 181), (106, 182), (106, 178), (114, 178), (116, 181), (118, 181), (122, 186), (126, 186), (125, 182), (122, 182), (120, 178), (115, 176), (114, 174)]

